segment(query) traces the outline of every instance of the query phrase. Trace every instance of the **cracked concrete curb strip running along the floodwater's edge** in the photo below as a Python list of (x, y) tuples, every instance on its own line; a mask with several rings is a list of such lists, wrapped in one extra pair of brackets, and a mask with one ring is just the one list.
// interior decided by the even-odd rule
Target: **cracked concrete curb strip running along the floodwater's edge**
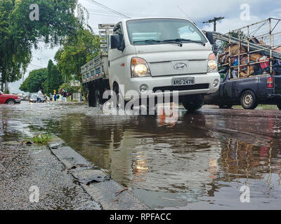
[(103, 210), (149, 210), (131, 191), (113, 181), (110, 176), (86, 160), (65, 141), (55, 137), (48, 148), (79, 184)]

